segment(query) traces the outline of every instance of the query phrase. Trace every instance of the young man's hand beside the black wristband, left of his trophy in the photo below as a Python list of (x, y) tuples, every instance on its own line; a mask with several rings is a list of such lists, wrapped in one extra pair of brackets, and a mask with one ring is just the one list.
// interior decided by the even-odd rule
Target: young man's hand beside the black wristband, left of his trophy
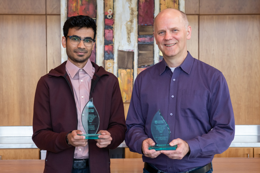
[(86, 146), (88, 144), (88, 139), (85, 139), (85, 136), (82, 135), (83, 132), (81, 130), (73, 130), (68, 134), (68, 144), (73, 146)]

